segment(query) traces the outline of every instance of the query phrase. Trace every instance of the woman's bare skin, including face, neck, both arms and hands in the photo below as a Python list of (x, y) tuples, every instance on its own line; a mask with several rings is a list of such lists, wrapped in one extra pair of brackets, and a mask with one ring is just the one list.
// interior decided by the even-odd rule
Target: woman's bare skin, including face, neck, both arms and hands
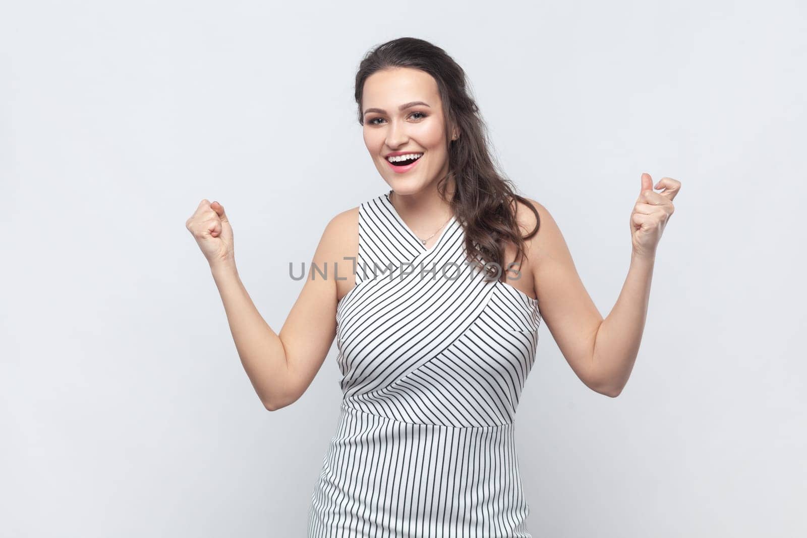
[[(403, 104), (420, 101), (399, 110)], [(374, 73), (365, 82), (363, 138), (378, 173), (387, 182), (391, 201), (408, 227), (420, 237), (441, 230), (451, 215), (437, 193), (437, 181), (448, 173), (448, 148), (462, 136), (445, 128), (437, 82), (417, 69)], [(423, 152), (412, 172), (393, 172), (385, 155), (395, 151)], [(541, 318), (563, 357), (589, 388), (616, 397), (628, 381), (638, 355), (650, 298), (655, 252), (680, 182), (663, 177), (654, 192), (649, 174), (630, 215), (631, 259), (628, 275), (611, 312), (603, 318), (581, 282), (558, 224), (540, 203), (527, 198), (541, 218), (537, 234), (526, 242), (528, 256), (521, 277), (506, 285), (537, 298)], [(454, 191), (449, 179), (447, 194)], [(526, 232), (535, 216), (521, 202), (516, 219)], [(312, 256), (328, 278), (310, 272), (279, 333), (261, 317), (240, 281), (233, 255), (232, 227), (219, 202), (203, 199), (186, 228), (199, 244), (218, 288), (241, 364), (270, 411), (291, 405), (311, 385), (336, 337), (337, 303), (355, 286), (350, 257), (358, 254), (358, 207), (343, 211), (327, 224)], [(431, 248), (439, 233), (426, 243)], [(505, 245), (505, 265), (515, 261), (516, 248)], [(333, 277), (336, 264), (337, 277)], [(313, 270), (313, 269), (312, 269)]]

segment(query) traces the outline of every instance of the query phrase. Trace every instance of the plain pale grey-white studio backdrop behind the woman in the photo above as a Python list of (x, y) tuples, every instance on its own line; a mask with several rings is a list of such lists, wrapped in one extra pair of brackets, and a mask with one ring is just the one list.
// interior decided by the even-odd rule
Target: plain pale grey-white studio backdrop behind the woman
[(336, 345), (266, 411), (185, 221), (224, 204), (279, 332), (289, 263), (387, 190), (353, 78), (404, 35), (466, 70), (602, 315), (642, 172), (683, 183), (618, 398), (541, 323), (516, 417), (533, 536), (807, 533), (801, 2), (5, 2), (0, 21), (3, 537), (304, 536)]

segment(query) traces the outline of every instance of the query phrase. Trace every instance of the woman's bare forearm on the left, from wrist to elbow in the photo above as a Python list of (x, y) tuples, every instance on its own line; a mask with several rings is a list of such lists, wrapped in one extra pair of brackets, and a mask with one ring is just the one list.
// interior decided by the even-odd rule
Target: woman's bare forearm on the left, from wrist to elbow
[(288, 378), (282, 341), (257, 311), (234, 263), (211, 266), (211, 273), (224, 303), (241, 365), (261, 402), (270, 407), (271, 402), (283, 398)]

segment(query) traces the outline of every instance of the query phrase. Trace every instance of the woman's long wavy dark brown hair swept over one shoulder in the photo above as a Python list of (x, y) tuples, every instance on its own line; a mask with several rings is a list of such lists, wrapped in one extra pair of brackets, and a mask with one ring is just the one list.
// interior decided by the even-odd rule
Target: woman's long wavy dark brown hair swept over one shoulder
[[(445, 143), (449, 146), (449, 173), (438, 181), (437, 190), (445, 199), (448, 178), (454, 176), (454, 198), (446, 202), (465, 227), (468, 260), (478, 265), (484, 261), (486, 279), (504, 280), (509, 269), (504, 266), (505, 242), (516, 245), (516, 263), (520, 265), (519, 261), (526, 256), (525, 240), (537, 233), (541, 222), (533, 205), (516, 194), (512, 181), (495, 165), (488, 151), (487, 126), (466, 88), (465, 72), (457, 62), (442, 48), (414, 37), (378, 45), (362, 59), (356, 73), (358, 123), (364, 125), (362, 92), (367, 77), (382, 69), (399, 67), (420, 69), (437, 81), (445, 118)], [(457, 140), (449, 140), (451, 125), (458, 127)], [(535, 214), (535, 229), (527, 236), (521, 235), (516, 221), (516, 200)], [(491, 263), (495, 263), (492, 268)]]

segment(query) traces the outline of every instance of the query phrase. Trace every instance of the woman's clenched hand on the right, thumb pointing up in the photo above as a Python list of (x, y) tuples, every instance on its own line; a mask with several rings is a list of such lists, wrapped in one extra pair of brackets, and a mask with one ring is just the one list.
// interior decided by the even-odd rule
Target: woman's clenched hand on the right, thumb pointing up
[[(653, 189), (664, 189), (657, 193)], [(681, 182), (672, 177), (662, 177), (653, 186), (649, 173), (642, 174), (642, 191), (633, 213), (630, 214), (630, 236), (633, 244), (633, 255), (652, 258), (656, 247), (667, 226), (675, 206), (672, 199), (681, 190)]]

